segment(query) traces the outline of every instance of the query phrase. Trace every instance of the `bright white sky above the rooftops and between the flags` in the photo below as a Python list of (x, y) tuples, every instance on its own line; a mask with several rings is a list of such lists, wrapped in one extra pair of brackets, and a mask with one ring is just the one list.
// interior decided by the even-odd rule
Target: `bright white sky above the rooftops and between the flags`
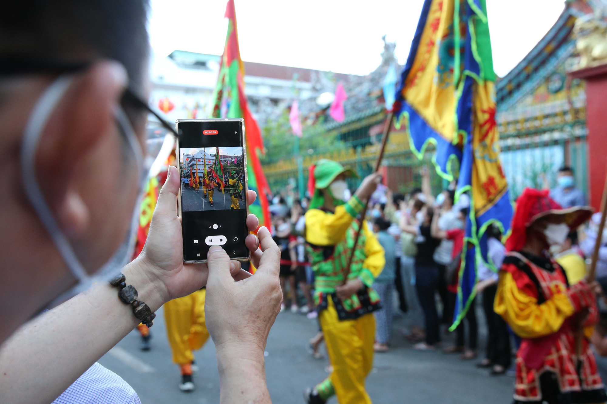
[[(381, 62), (382, 35), (409, 55), (423, 0), (235, 0), (243, 60), (366, 75)], [(175, 49), (220, 55), (223, 0), (151, 0), (158, 55)], [(495, 72), (504, 76), (548, 32), (563, 0), (486, 0)]]

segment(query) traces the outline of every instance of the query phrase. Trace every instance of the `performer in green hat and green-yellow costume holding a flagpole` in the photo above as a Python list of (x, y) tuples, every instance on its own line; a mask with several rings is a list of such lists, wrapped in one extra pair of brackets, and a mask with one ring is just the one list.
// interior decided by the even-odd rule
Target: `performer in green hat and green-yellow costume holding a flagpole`
[(309, 404), (324, 404), (333, 394), (339, 404), (371, 403), (365, 379), (373, 366), (372, 312), (381, 308), (371, 284), (384, 268), (385, 258), (384, 249), (364, 222), (347, 282), (343, 281), (359, 228), (356, 218), (363, 208), (362, 200), (370, 197), (380, 177), (369, 175), (345, 202), (345, 178), (352, 175), (356, 173), (331, 160), (320, 160), (310, 167), (308, 187), (314, 197), (305, 214), (305, 238), (316, 277), (314, 299), (333, 372), (305, 391)]

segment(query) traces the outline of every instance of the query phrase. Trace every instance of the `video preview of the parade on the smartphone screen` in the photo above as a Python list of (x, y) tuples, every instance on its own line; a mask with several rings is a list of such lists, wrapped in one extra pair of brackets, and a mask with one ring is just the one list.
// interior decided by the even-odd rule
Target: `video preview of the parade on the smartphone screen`
[(179, 153), (183, 212), (245, 209), (242, 147), (189, 147)]

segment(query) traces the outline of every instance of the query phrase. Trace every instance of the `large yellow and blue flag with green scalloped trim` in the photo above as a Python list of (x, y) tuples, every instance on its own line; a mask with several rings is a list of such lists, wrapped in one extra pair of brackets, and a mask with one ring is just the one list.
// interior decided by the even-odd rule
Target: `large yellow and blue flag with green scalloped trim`
[(487, 257), (486, 229), (507, 234), (512, 203), (500, 162), (495, 122), (495, 73), (485, 0), (425, 0), (396, 90), (396, 127), (409, 133), (418, 158), (435, 144), (436, 172), (470, 196), (453, 328), (475, 292), (476, 266)]

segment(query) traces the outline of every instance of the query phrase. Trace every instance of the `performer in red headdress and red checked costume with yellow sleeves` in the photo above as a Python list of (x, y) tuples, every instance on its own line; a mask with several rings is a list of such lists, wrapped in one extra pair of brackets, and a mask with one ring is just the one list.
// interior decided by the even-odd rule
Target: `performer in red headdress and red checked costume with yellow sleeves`
[[(493, 303), (522, 338), (515, 403), (607, 400), (588, 341), (599, 319), (594, 291), (585, 280), (571, 284), (549, 253), (591, 214), (589, 207), (561, 208), (548, 190), (527, 188), (517, 200)], [(585, 335), (578, 358), (574, 334), (579, 327)]]

